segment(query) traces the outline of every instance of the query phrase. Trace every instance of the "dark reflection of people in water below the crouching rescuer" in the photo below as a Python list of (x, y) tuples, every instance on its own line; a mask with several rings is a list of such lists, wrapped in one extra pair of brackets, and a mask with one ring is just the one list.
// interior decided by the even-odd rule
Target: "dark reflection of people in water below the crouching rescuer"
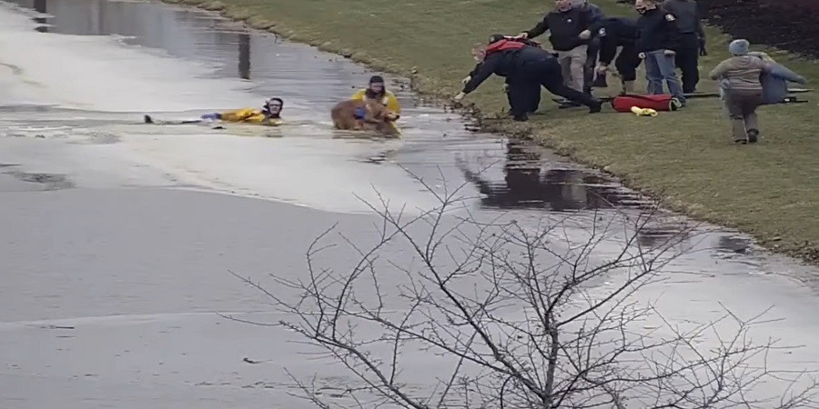
[[(555, 212), (626, 207), (649, 210), (652, 204), (615, 181), (580, 169), (543, 168), (541, 149), (517, 141), (506, 146), (504, 181), (493, 182), (460, 164), (485, 197), (481, 205), (501, 209), (543, 209)], [(547, 165), (554, 165), (548, 164)]]

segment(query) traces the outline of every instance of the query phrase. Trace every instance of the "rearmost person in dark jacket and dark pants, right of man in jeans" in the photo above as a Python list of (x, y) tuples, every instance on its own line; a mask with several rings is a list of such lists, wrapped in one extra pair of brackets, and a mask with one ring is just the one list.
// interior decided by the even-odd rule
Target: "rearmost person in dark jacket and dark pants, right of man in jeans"
[(665, 0), (662, 9), (677, 19), (679, 45), (675, 65), (682, 70), (682, 92), (692, 94), (700, 82), (699, 57), (705, 53), (705, 31), (699, 6), (694, 0)]

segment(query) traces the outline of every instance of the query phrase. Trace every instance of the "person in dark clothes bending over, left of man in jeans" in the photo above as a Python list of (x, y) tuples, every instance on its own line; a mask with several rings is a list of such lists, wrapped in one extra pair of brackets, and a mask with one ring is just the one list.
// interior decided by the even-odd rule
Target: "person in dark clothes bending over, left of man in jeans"
[[(581, 33), (581, 37), (600, 39), (600, 63), (597, 65), (597, 75), (606, 75), (614, 56), (614, 67), (620, 73), (622, 94), (634, 92), (634, 81), (637, 80), (637, 67), (642, 60), (638, 56), (637, 42), (640, 39), (640, 28), (637, 21), (626, 17), (609, 17), (597, 22)], [(622, 47), (620, 54), (617, 48)]]

